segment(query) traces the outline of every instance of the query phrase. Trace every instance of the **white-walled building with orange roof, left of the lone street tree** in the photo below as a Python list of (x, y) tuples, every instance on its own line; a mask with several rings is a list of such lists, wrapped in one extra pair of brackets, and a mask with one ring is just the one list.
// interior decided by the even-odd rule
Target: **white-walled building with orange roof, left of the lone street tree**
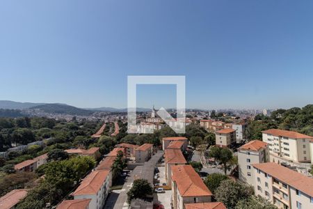
[(109, 194), (109, 182), (109, 171), (92, 171), (72, 193), (74, 200), (91, 199), (88, 206), (89, 208), (103, 208), (106, 197)]

